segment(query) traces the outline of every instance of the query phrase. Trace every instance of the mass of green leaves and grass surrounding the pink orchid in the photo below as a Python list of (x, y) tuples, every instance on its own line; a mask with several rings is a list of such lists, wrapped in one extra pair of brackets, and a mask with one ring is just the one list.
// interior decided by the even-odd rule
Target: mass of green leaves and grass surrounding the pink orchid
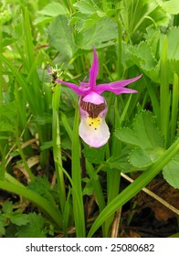
[[(177, 0), (3, 0), (0, 11), (0, 188), (18, 195), (1, 208), (2, 236), (109, 237), (115, 211), (154, 176), (179, 188)], [(77, 95), (47, 74), (88, 79), (93, 47), (98, 83), (142, 73), (137, 94), (104, 93), (111, 139), (99, 150), (79, 141)], [(136, 171), (121, 191), (121, 172)], [(33, 210), (16, 209), (26, 200)]]

